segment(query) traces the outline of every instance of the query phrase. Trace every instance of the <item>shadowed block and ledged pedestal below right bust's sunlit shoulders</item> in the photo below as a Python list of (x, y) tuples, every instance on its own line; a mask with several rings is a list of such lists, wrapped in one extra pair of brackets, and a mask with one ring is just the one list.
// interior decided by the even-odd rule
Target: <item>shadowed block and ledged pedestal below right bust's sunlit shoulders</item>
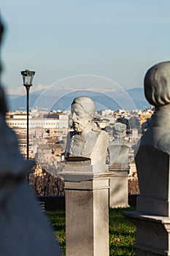
[(141, 145), (136, 166), (141, 192), (137, 211), (123, 213), (136, 225), (136, 255), (170, 255), (169, 155)]

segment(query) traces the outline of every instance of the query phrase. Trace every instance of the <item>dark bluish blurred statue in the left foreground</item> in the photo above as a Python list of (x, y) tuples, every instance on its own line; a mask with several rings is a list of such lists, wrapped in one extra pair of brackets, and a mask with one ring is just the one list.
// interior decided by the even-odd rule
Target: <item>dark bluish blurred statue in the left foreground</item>
[[(0, 19), (0, 41), (2, 28)], [(20, 154), (18, 138), (5, 121), (6, 112), (0, 85), (0, 255), (47, 256), (55, 252), (59, 256), (53, 230), (26, 183), (34, 162), (26, 161)]]

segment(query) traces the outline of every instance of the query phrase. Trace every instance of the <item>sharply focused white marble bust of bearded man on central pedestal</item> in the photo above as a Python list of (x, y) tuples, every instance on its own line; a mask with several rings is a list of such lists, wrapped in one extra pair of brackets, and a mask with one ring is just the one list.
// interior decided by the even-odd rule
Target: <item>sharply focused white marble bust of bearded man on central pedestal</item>
[(91, 165), (106, 163), (107, 132), (96, 128), (93, 118), (96, 106), (89, 97), (77, 97), (72, 102), (72, 127), (66, 143), (66, 157), (89, 157)]

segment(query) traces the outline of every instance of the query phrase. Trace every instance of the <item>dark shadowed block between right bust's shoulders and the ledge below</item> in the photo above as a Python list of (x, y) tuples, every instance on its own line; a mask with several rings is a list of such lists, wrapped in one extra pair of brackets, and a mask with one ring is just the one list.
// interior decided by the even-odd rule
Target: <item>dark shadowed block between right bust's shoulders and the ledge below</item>
[(137, 211), (170, 217), (169, 154), (152, 146), (141, 145), (135, 159), (140, 189)]

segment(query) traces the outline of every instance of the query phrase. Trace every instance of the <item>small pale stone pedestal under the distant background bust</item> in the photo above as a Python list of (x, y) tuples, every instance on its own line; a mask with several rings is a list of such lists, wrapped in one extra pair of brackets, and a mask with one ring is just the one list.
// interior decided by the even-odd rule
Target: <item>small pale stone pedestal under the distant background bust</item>
[(109, 207), (127, 207), (128, 206), (128, 173), (129, 167), (119, 169), (118, 167), (109, 167)]

